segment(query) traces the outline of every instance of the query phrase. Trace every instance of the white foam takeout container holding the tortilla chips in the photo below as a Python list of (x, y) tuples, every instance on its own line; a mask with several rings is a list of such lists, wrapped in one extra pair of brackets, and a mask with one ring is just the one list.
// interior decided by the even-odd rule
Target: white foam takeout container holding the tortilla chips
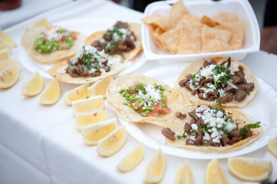
[[(143, 16), (160, 14), (164, 17), (170, 17), (171, 4), (177, 0), (167, 0), (153, 2), (149, 4)], [(232, 59), (242, 60), (247, 54), (258, 52), (260, 48), (260, 30), (255, 13), (247, 0), (183, 0), (191, 14), (202, 17), (207, 15), (209, 17), (220, 13), (230, 12), (235, 13), (239, 17), (239, 21), (244, 21), (244, 37), (242, 48), (238, 50), (210, 52), (199, 54), (179, 54), (174, 55), (171, 52), (163, 52), (154, 42), (150, 30), (146, 24), (142, 24), (141, 36), (143, 51), (148, 60), (158, 59), (160, 63), (174, 63), (174, 62), (191, 62), (199, 58), (207, 57), (228, 57)]]

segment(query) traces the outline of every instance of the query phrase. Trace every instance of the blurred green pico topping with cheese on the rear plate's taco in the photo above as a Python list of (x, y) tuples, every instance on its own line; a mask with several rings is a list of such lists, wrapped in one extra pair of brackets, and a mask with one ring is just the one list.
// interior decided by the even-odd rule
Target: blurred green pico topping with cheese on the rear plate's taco
[(40, 33), (35, 41), (39, 53), (50, 53), (55, 50), (69, 49), (76, 40), (76, 35), (65, 29), (52, 26), (46, 32)]

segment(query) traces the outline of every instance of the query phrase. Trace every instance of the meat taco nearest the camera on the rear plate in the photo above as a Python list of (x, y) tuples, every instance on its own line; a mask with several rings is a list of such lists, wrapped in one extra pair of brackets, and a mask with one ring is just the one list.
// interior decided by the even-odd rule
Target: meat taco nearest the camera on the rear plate
[(62, 82), (85, 84), (115, 75), (123, 68), (121, 56), (108, 56), (104, 50), (99, 52), (92, 46), (80, 46), (73, 58), (54, 64), (48, 73)]

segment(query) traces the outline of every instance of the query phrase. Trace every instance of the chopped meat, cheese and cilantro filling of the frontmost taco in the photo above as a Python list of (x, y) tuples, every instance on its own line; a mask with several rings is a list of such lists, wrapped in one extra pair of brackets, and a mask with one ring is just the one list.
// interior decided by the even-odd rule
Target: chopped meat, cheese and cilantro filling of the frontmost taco
[[(238, 129), (238, 124), (231, 118), (231, 114), (226, 115), (222, 108), (217, 107), (197, 107), (188, 115), (192, 118), (190, 123), (184, 125), (183, 136), (177, 135), (178, 139), (186, 138), (187, 145), (202, 146), (227, 146), (239, 140), (252, 136), (250, 128), (260, 127), (261, 122), (245, 125)], [(163, 131), (163, 135), (172, 139), (172, 131)], [(175, 132), (174, 132), (175, 133)], [(177, 133), (176, 133), (177, 134)], [(175, 134), (174, 134), (175, 135)]]

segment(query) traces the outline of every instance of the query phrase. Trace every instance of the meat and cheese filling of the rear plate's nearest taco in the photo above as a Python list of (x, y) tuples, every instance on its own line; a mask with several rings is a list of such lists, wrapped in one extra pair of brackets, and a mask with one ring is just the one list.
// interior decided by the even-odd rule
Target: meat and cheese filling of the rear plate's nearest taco
[(96, 77), (110, 71), (108, 59), (105, 53), (98, 52), (92, 46), (80, 46), (74, 58), (67, 60), (69, 65), (65, 69), (72, 77), (92, 76)]

